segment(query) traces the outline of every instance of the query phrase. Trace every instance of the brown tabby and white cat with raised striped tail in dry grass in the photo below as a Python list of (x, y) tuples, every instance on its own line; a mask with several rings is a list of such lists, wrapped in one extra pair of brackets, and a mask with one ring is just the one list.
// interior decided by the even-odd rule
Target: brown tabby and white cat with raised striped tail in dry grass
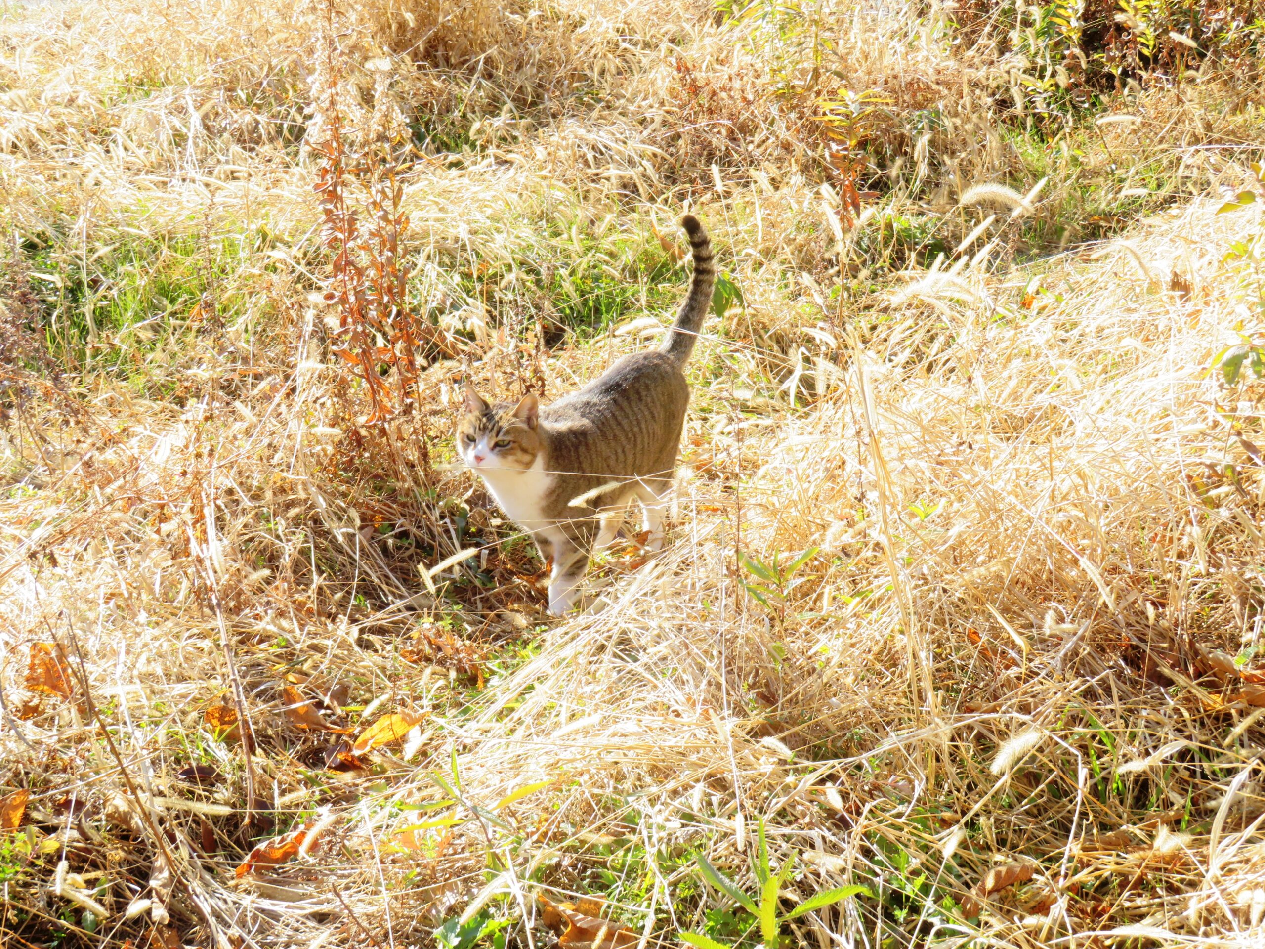
[(711, 305), (716, 268), (703, 225), (686, 215), (694, 272), (663, 345), (620, 359), (601, 377), (541, 407), (488, 405), (466, 381), (457, 450), (501, 510), (553, 557), (549, 612), (562, 616), (579, 593), (591, 550), (607, 547), (634, 499), (646, 547), (663, 547), (663, 509), (677, 467), (689, 404), (682, 371)]

